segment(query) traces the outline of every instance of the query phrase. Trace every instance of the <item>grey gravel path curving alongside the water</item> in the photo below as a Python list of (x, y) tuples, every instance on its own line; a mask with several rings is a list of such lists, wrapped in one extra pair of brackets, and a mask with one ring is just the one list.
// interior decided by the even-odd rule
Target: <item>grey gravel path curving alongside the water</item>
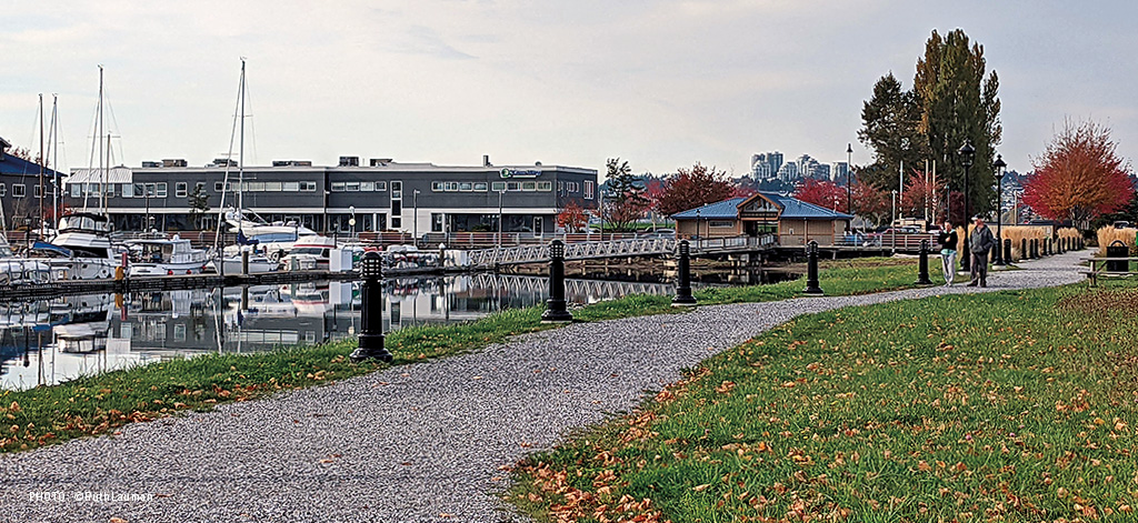
[[(988, 290), (1080, 281), (1080, 256), (992, 273)], [(494, 495), (508, 481), (500, 466), (635, 407), (682, 368), (800, 314), (975, 291), (933, 287), (574, 324), (478, 354), (135, 423), (118, 437), (0, 457), (0, 520), (525, 521)]]

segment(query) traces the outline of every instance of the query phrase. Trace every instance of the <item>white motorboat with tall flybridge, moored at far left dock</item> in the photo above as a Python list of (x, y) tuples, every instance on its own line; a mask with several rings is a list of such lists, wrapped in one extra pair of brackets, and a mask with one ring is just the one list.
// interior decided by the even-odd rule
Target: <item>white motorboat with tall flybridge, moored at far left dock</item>
[(32, 247), (43, 257), (56, 280), (109, 280), (119, 265), (110, 243), (110, 219), (93, 213), (72, 213), (59, 218), (59, 233), (51, 243)]

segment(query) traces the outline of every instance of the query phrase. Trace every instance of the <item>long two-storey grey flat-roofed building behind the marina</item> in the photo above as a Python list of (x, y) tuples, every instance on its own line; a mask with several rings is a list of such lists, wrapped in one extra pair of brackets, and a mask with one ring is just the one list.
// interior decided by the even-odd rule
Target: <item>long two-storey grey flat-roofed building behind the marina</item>
[[(399, 231), (549, 234), (570, 202), (599, 204), (596, 169), (558, 165), (480, 166), (409, 164), (390, 158), (340, 157), (336, 166), (279, 160), (244, 168), (244, 207), (270, 222), (295, 221), (323, 232)], [(65, 192), (73, 209), (101, 208), (116, 230), (212, 230), (218, 209), (237, 206), (238, 168), (229, 160), (190, 167), (185, 160), (142, 167), (73, 169)], [(100, 192), (105, 191), (105, 194)], [(208, 213), (191, 211), (195, 191)], [(224, 197), (224, 202), (222, 198)], [(355, 218), (355, 225), (352, 225)]]

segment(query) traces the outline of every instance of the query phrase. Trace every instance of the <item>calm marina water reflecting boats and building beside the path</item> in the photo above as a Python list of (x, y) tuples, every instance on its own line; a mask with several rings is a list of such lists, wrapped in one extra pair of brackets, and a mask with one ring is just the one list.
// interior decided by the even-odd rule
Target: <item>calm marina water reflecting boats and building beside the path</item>
[[(477, 319), (544, 304), (537, 276), (477, 274), (391, 280), (387, 332)], [(670, 283), (568, 280), (567, 298), (592, 304), (633, 293), (671, 296)], [(360, 284), (318, 282), (213, 290), (71, 296), (0, 304), (0, 389), (27, 389), (85, 374), (206, 352), (250, 352), (318, 343), (360, 330)]]

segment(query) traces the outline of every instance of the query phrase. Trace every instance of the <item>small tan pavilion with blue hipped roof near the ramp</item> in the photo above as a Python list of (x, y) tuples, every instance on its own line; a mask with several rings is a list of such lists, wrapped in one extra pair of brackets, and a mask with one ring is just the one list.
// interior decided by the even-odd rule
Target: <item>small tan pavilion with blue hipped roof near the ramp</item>
[(776, 234), (784, 247), (834, 244), (849, 222), (844, 213), (808, 204), (775, 192), (757, 192), (676, 213), (676, 234), (686, 238), (720, 238)]

